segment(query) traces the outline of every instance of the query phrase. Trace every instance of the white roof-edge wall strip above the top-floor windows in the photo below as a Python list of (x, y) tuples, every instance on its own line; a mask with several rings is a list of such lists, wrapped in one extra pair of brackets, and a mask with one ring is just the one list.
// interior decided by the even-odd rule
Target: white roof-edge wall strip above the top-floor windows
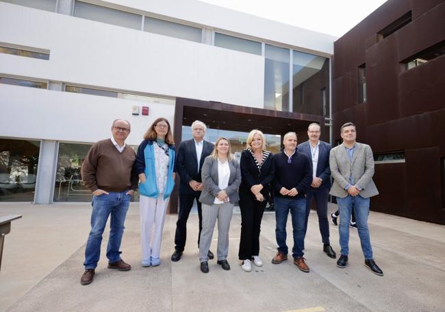
[[(265, 40), (292, 45), (302, 51), (316, 52), (323, 56), (333, 54), (333, 42), (338, 37), (309, 29), (295, 27), (277, 21), (270, 21), (217, 5), (196, 0), (83, 0), (102, 5), (116, 5), (116, 8), (136, 8), (160, 16), (171, 16), (183, 21), (224, 29), (229, 32), (246, 34)], [(242, 1), (242, 0), (240, 0)], [(130, 9), (131, 10), (131, 9)], [(321, 8), (322, 10), (322, 8)]]

